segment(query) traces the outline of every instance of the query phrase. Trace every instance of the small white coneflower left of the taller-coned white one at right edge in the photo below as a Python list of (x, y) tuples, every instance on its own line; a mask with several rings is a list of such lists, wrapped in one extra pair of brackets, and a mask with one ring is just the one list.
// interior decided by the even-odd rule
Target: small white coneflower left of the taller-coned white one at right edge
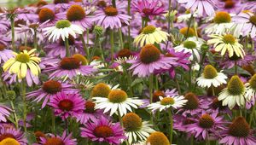
[(196, 81), (199, 86), (210, 88), (211, 86), (218, 87), (220, 84), (226, 84), (226, 78), (228, 77), (224, 73), (218, 73), (215, 67), (207, 65), (201, 77), (196, 78)]

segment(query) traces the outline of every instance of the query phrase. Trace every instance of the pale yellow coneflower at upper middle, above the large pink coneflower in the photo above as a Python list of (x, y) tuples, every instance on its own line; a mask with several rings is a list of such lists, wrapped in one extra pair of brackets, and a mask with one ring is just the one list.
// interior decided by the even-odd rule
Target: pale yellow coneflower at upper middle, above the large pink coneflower
[(145, 44), (160, 44), (166, 42), (168, 36), (169, 34), (161, 31), (160, 27), (145, 26), (143, 32), (134, 39), (134, 44), (140, 47), (143, 47)]

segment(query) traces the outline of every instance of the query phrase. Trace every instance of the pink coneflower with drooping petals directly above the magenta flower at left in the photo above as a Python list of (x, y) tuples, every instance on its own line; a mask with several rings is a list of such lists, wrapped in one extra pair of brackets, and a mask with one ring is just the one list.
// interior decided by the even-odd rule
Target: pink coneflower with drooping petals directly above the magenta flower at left
[(53, 98), (59, 92), (64, 92), (65, 94), (76, 94), (79, 90), (73, 89), (73, 84), (64, 84), (55, 80), (48, 80), (44, 82), (42, 87), (38, 90), (27, 93), (26, 97), (28, 99), (34, 98), (32, 102), (41, 102), (44, 99), (42, 108), (44, 108), (49, 102), (50, 98)]

